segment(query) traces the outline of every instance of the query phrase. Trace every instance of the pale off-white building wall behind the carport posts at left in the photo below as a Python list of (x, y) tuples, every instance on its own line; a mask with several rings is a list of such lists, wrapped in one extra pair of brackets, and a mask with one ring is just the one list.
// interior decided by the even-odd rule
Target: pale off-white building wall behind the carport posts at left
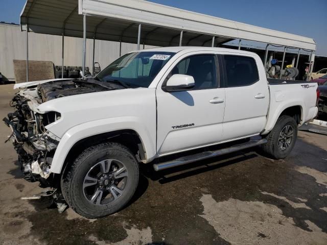
[[(61, 36), (29, 33), (29, 60), (52, 61), (61, 66)], [(96, 40), (95, 62), (105, 68), (119, 58), (119, 42)], [(146, 45), (145, 48), (152, 46)], [(136, 50), (137, 45), (122, 43), (122, 55)], [(143, 48), (143, 45), (141, 45)], [(64, 65), (82, 66), (83, 39), (64, 38)], [(93, 40), (86, 40), (86, 66), (92, 72)], [(0, 23), (0, 72), (14, 81), (13, 60), (26, 60), (26, 32), (14, 24)]]

